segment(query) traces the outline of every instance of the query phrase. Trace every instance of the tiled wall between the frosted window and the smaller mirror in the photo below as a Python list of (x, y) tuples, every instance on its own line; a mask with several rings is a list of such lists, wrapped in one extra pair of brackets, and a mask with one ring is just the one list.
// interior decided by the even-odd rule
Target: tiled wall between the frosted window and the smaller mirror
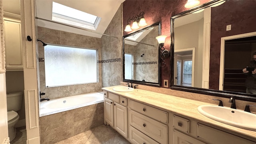
[(122, 55), (122, 36), (123, 36), (123, 5), (118, 8), (114, 18), (108, 25), (104, 34), (116, 36), (102, 36), (102, 87), (120, 85), (123, 80), (123, 55)]

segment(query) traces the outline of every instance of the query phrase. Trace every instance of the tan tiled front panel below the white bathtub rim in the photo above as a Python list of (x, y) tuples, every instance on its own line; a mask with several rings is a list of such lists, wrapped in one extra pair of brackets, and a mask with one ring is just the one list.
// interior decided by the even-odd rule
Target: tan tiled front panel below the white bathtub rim
[(40, 144), (54, 144), (104, 124), (104, 103), (40, 117)]

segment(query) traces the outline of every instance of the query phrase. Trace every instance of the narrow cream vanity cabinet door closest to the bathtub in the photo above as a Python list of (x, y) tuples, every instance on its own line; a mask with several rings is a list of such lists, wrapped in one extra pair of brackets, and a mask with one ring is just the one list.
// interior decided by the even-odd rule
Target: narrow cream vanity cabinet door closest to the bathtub
[(114, 114), (113, 101), (104, 98), (104, 119), (110, 126), (114, 126)]

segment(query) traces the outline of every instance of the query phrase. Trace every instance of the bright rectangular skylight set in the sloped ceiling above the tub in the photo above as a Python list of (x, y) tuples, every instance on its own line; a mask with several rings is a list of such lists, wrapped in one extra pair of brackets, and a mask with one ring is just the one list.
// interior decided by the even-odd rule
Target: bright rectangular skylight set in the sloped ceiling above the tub
[(73, 26), (88, 28), (90, 30), (96, 30), (101, 18), (52, 2), (52, 20)]

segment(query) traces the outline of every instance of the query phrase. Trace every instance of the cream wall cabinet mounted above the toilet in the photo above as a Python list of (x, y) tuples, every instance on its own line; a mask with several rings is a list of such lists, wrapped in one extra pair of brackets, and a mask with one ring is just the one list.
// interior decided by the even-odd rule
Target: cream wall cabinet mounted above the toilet
[(20, 20), (4, 17), (6, 70), (23, 70)]

